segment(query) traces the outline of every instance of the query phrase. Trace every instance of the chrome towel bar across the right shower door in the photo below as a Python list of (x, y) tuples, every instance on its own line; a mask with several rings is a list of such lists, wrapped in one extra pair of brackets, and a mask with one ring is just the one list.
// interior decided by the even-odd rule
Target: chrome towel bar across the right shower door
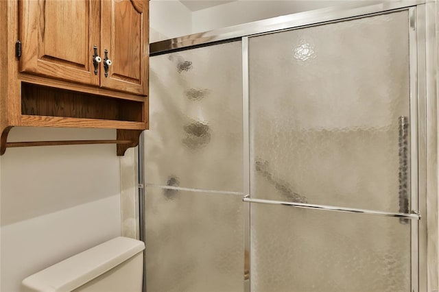
[(378, 215), (378, 216), (397, 217), (397, 218), (406, 218), (406, 219), (414, 219), (414, 220), (420, 219), (420, 215), (416, 214), (416, 212), (414, 212), (414, 211), (412, 211), (412, 214), (392, 213), (392, 212), (383, 212), (383, 211), (375, 211), (375, 210), (367, 210), (367, 209), (345, 208), (345, 207), (335, 207), (335, 206), (316, 205), (316, 204), (304, 204), (304, 203), (294, 203), (294, 202), (283, 202), (283, 201), (275, 201), (275, 200), (271, 200), (271, 199), (252, 199), (249, 197), (249, 195), (246, 195), (242, 200), (244, 202), (248, 202), (248, 203), (292, 206), (292, 207), (297, 207), (297, 208), (307, 208), (307, 209), (326, 210), (326, 211), (335, 211), (335, 212), (346, 212), (346, 213), (365, 214), (365, 215)]

